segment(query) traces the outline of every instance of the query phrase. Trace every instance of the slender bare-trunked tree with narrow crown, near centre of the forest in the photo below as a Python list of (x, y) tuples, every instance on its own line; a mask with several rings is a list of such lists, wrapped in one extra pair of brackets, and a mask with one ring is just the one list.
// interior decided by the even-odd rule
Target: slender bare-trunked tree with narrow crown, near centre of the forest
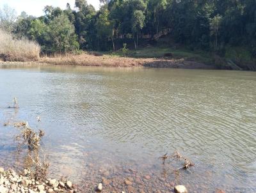
[(137, 42), (135, 43), (135, 49), (138, 48), (138, 33), (144, 26), (145, 15), (141, 10), (135, 10), (132, 15), (132, 30), (137, 33)]

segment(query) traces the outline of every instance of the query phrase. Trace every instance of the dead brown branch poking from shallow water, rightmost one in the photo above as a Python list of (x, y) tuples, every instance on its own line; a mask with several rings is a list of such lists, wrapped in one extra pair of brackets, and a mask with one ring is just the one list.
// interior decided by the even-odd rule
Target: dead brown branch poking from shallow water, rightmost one
[(182, 167), (179, 167), (175, 171), (178, 171), (179, 169), (188, 169), (191, 166), (195, 166), (195, 164), (189, 160), (188, 158), (184, 157), (179, 153), (179, 151), (175, 150), (172, 155), (168, 155), (168, 153), (164, 154), (163, 156), (159, 157), (163, 160), (163, 164), (165, 164), (166, 160), (172, 159), (172, 160), (184, 160), (184, 164)]

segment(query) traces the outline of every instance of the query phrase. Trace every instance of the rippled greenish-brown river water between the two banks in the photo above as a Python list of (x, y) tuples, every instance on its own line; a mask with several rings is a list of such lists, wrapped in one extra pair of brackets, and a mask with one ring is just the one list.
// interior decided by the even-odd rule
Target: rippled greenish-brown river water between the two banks
[[(8, 120), (44, 128), (49, 176), (84, 192), (256, 192), (255, 72), (2, 65), (0, 166), (22, 168)], [(195, 166), (162, 164), (175, 150)]]

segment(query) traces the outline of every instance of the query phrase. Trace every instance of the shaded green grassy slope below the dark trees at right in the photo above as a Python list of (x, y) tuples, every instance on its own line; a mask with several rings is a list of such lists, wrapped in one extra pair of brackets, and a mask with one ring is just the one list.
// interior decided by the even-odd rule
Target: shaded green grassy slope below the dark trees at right
[[(164, 40), (164, 39), (163, 39)], [(189, 50), (185, 47), (170, 46), (160, 40), (156, 45), (145, 45), (138, 50), (128, 50), (127, 56), (131, 58), (165, 58), (164, 54), (172, 53), (172, 57), (166, 59), (184, 59), (205, 65), (215, 66), (220, 69), (256, 70), (255, 59), (246, 47), (226, 47), (224, 57), (217, 56), (204, 50)], [(167, 42), (167, 41), (166, 41)], [(104, 52), (102, 54), (112, 56), (124, 56), (122, 50), (116, 52)]]

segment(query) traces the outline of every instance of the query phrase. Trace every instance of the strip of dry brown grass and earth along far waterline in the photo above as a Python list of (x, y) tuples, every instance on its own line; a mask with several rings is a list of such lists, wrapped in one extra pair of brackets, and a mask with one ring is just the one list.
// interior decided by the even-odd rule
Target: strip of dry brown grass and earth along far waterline
[(114, 66), (114, 67), (154, 67), (154, 68), (186, 68), (215, 69), (213, 65), (189, 61), (186, 59), (168, 58), (129, 58), (103, 54), (66, 54), (65, 56), (42, 57), (38, 61), (19, 62), (1, 61), (3, 64), (23, 65), (71, 65), (71, 66)]

